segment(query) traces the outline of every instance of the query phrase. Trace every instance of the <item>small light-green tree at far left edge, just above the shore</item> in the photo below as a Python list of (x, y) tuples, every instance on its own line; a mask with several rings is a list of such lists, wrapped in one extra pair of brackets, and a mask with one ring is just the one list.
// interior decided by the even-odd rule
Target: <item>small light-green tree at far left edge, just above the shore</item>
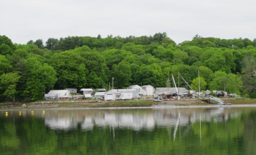
[(17, 73), (3, 73), (0, 76), (0, 89), (3, 90), (3, 95), (12, 98), (15, 102), (16, 85), (20, 76)]

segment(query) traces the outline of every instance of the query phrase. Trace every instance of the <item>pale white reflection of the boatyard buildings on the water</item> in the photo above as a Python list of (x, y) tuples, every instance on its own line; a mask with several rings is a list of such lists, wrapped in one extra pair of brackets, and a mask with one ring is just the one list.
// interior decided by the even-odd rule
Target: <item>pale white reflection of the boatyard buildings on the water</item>
[(84, 130), (91, 130), (94, 125), (99, 127), (119, 127), (133, 130), (153, 129), (155, 126), (187, 126), (199, 121), (224, 121), (237, 117), (238, 112), (229, 113), (223, 107), (219, 108), (180, 108), (180, 109), (116, 109), (116, 110), (48, 110), (45, 124), (52, 129), (72, 129), (78, 124)]

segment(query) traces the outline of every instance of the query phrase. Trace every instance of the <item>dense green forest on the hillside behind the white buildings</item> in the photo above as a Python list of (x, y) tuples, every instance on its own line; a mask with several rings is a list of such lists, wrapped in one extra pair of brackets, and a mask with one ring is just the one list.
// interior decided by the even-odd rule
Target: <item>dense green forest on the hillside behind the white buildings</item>
[[(43, 99), (51, 89), (165, 87), (178, 72), (197, 90), (225, 90), (256, 98), (256, 39), (203, 38), (176, 44), (166, 33), (102, 38), (68, 36), (30, 40), (0, 36), (0, 100)], [(186, 84), (180, 80), (180, 87)]]

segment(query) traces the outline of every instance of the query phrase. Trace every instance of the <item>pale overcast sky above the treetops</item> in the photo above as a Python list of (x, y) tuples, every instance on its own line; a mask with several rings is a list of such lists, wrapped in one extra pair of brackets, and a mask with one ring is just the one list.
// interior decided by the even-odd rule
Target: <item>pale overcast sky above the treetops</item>
[(126, 37), (166, 32), (256, 38), (256, 0), (0, 0), (0, 35), (14, 43), (67, 36)]

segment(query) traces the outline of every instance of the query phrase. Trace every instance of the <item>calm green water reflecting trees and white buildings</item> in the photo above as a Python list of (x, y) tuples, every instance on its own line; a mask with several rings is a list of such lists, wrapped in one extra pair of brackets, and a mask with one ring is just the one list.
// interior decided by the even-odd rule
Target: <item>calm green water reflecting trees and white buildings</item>
[(0, 111), (0, 155), (256, 155), (256, 107)]

